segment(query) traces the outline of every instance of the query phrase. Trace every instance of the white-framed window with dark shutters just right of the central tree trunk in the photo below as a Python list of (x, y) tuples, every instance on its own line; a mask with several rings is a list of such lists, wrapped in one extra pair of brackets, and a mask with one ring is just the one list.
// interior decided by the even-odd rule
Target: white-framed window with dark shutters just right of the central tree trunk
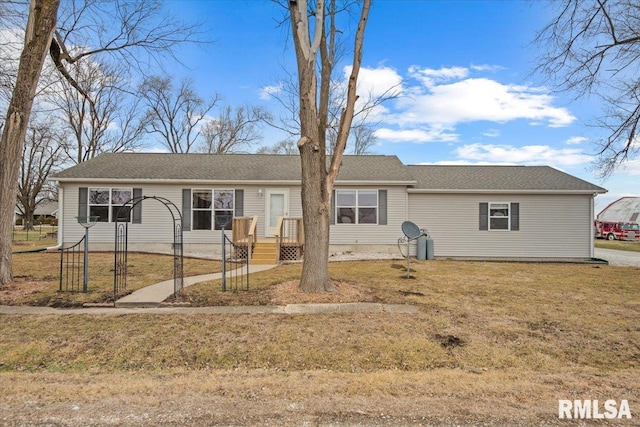
[(378, 190), (336, 190), (337, 224), (377, 224)]

